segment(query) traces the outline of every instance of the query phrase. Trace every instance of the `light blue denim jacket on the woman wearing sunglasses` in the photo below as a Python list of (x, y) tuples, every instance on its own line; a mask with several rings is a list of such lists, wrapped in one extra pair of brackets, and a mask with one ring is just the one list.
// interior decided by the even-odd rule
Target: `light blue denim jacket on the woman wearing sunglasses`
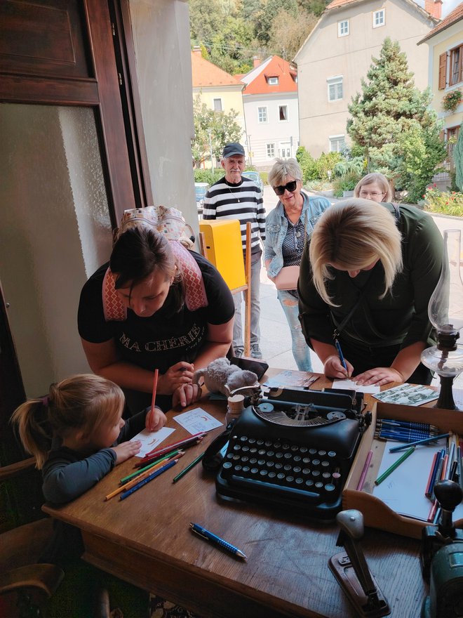
[[(304, 198), (302, 204), (302, 213), (300, 218), (304, 221), (307, 237), (311, 235), (315, 223), (321, 217), (324, 211), (330, 206), (330, 202), (326, 197), (311, 197), (301, 191)], [(284, 206), (281, 202), (276, 204), (275, 208), (269, 212), (265, 218), (265, 251), (264, 264), (271, 260), (267, 268), (269, 277), (276, 277), (283, 267), (283, 240), (288, 231), (288, 219), (285, 216)]]

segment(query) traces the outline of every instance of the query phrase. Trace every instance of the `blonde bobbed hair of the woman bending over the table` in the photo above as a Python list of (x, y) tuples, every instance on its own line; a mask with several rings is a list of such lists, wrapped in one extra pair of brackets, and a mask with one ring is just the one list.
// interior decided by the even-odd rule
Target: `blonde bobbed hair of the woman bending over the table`
[(394, 214), (369, 199), (345, 199), (327, 209), (311, 235), (309, 258), (314, 285), (328, 305), (335, 303), (326, 291), (335, 275), (330, 265), (346, 270), (365, 268), (379, 259), (384, 269), (384, 298), (402, 270), (401, 232)]

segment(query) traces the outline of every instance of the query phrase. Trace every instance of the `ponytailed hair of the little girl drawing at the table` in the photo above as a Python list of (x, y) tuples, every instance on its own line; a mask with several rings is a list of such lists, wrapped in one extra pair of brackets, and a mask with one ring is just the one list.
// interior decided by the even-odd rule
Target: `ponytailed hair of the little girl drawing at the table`
[(11, 422), (18, 428), (22, 445), (43, 468), (54, 435), (65, 438), (69, 430), (90, 434), (102, 421), (116, 419), (125, 398), (117, 384), (94, 374), (70, 376), (50, 386), (48, 395), (20, 405)]

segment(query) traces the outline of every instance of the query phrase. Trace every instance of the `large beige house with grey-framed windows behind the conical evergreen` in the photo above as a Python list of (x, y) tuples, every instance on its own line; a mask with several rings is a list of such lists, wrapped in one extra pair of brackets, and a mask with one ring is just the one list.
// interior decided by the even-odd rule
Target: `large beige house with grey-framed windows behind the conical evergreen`
[(418, 46), (441, 20), (442, 0), (333, 0), (295, 55), (300, 142), (314, 157), (349, 145), (347, 106), (383, 41), (398, 41), (420, 90), (429, 84), (429, 54)]

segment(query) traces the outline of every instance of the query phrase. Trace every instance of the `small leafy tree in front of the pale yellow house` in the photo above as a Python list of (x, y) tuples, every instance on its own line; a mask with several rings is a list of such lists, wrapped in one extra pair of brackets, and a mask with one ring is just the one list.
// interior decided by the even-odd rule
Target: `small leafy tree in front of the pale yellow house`
[(210, 159), (211, 143), (213, 154), (216, 159), (219, 159), (225, 144), (239, 142), (241, 139), (243, 130), (236, 122), (238, 112), (234, 110), (227, 114), (214, 112), (208, 109), (206, 103), (201, 103), (201, 97), (198, 94), (193, 102), (193, 113), (192, 157), (196, 167), (199, 167), (206, 159)]

